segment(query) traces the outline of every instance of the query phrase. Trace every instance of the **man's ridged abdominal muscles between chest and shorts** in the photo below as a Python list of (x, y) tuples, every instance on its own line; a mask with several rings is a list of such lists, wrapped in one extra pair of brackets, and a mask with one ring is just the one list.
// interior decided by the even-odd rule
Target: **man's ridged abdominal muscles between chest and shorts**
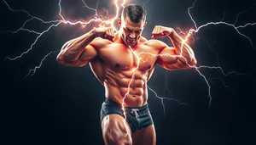
[(125, 107), (142, 107), (147, 104), (147, 77), (142, 72), (128, 70), (108, 71), (104, 81), (106, 98)]

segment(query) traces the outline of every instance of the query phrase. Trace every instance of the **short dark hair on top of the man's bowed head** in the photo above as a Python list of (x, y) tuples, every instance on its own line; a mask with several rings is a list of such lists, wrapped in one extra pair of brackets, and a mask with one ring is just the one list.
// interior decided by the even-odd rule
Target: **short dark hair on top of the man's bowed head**
[(138, 4), (129, 4), (122, 11), (124, 20), (128, 16), (133, 23), (138, 23), (141, 20), (145, 21), (146, 15), (146, 10)]

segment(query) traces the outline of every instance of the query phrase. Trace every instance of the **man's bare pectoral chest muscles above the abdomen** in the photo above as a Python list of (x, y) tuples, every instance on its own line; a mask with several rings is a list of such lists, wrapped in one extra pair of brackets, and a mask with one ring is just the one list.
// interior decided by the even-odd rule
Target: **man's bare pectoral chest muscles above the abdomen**
[(119, 45), (103, 47), (99, 50), (104, 64), (113, 70), (150, 70), (157, 59), (156, 53), (150, 47), (136, 48)]

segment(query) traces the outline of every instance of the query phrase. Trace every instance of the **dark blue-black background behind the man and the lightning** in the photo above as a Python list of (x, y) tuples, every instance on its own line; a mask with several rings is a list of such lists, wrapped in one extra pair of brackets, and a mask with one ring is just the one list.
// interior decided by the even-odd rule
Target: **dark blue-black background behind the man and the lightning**
[[(111, 0), (98, 0), (98, 8), (113, 14)], [(145, 1), (133, 1), (143, 4)], [(154, 25), (165, 25), (183, 31), (195, 28), (188, 8), (193, 0), (151, 0), (146, 3), (148, 25), (143, 36), (150, 38)], [(14, 9), (25, 9), (43, 20), (59, 19), (57, 0), (7, 0)], [(96, 8), (96, 1), (85, 1)], [(197, 25), (220, 21), (233, 24), (236, 14), (255, 2), (242, 0), (198, 0), (191, 14)], [(69, 20), (88, 20), (93, 11), (83, 8), (79, 0), (62, 0), (62, 14)], [(0, 2), (1, 31), (16, 31), (29, 19), (22, 12), (11, 12)], [(256, 7), (240, 15), (236, 25), (256, 22)], [(32, 20), (26, 25), (34, 31), (44, 31), (49, 24)], [(240, 29), (250, 36), (256, 46), (256, 26)], [(89, 29), (89, 27), (88, 27)], [(61, 66), (55, 61), (61, 46), (84, 34), (88, 29), (80, 25), (52, 28), (38, 39), (30, 53), (15, 61), (26, 51), (38, 35), (27, 31), (17, 34), (1, 33), (1, 131), (3, 144), (103, 144), (100, 109), (104, 87), (96, 80), (89, 65), (81, 68)], [(210, 108), (208, 86), (195, 70), (166, 71), (156, 66), (148, 86), (162, 98), (177, 98), (182, 103), (165, 100), (166, 114), (159, 98), (148, 90), (148, 104), (154, 118), (159, 145), (226, 145), (255, 144), (255, 55), (256, 49), (234, 28), (211, 25), (196, 33), (190, 46), (195, 51), (197, 66), (218, 66), (225, 72), (236, 70), (247, 75), (223, 75), (220, 70), (200, 69), (211, 86)], [(168, 39), (161, 39), (169, 45)], [(209, 47), (208, 44), (212, 44)], [(44, 60), (35, 75), (23, 77)], [(218, 57), (218, 60), (217, 60)], [(219, 62), (219, 63), (218, 63)], [(169, 90), (169, 91), (168, 91)], [(2, 143), (1, 143), (2, 144)]]

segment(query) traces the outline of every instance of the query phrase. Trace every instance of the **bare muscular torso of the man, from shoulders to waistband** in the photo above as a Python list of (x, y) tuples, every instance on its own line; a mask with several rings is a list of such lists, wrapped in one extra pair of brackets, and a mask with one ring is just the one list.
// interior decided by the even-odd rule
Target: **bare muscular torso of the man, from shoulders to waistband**
[[(143, 38), (141, 38), (143, 39)], [(147, 81), (154, 71), (159, 49), (140, 41), (134, 47), (102, 40), (97, 47), (98, 56), (90, 61), (96, 78), (105, 86), (106, 98), (128, 107), (141, 107), (147, 103)], [(106, 43), (104, 43), (106, 41)]]

